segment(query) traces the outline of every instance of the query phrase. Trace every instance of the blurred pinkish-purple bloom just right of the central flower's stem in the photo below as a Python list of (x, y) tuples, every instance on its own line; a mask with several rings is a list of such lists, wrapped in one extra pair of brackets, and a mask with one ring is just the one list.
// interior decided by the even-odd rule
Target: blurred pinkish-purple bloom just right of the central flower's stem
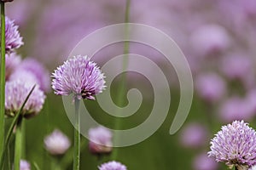
[(112, 133), (105, 127), (89, 129), (89, 150), (92, 154), (108, 154), (112, 151)]

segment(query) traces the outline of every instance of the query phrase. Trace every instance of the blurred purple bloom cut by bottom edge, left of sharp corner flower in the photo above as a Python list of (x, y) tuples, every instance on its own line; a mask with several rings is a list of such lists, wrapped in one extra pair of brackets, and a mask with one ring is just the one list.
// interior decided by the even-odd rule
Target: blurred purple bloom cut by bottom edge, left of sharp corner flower
[(212, 157), (208, 157), (206, 153), (202, 153), (195, 157), (193, 167), (195, 170), (216, 170), (218, 163)]

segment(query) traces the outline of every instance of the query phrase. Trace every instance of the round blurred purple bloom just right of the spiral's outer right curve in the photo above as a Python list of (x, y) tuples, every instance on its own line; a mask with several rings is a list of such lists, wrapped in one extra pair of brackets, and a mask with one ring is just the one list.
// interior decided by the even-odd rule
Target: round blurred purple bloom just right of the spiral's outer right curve
[(215, 73), (204, 73), (196, 77), (195, 88), (202, 99), (218, 101), (226, 92), (224, 80)]

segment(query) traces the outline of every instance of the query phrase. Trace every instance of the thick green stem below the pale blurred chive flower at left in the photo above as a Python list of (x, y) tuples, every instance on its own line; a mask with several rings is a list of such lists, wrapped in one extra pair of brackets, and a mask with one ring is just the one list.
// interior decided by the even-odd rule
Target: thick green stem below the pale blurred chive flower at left
[(22, 118), (19, 117), (19, 120), (16, 125), (16, 135), (15, 135), (15, 170), (20, 170), (20, 159), (22, 154)]

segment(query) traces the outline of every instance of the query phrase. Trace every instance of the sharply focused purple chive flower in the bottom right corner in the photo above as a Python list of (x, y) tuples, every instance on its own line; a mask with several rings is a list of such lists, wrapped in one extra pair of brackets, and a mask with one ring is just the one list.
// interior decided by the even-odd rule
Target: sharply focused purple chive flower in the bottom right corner
[(247, 122), (235, 121), (223, 126), (211, 140), (209, 156), (229, 166), (252, 167), (256, 164), (256, 132)]

